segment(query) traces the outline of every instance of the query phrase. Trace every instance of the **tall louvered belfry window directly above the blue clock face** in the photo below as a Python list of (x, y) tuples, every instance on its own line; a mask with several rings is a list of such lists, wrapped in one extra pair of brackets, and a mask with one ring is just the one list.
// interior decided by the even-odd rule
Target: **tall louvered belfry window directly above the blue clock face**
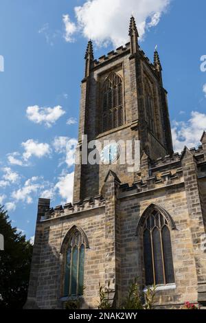
[(122, 78), (109, 74), (103, 87), (102, 132), (115, 129), (124, 124)]

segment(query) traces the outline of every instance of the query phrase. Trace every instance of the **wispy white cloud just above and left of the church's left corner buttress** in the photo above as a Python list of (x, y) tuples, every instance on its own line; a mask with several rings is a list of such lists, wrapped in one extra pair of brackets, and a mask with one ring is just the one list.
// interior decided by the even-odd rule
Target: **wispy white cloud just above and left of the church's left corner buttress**
[[(41, 184), (38, 183), (38, 181), (41, 181)], [(23, 187), (12, 192), (12, 198), (16, 201), (23, 201), (27, 204), (32, 203), (32, 197), (34, 196), (34, 193), (38, 192), (38, 190), (40, 190), (41, 188), (44, 188), (44, 184), (42, 182), (42, 178), (40, 177), (32, 177), (31, 179), (27, 179)]]

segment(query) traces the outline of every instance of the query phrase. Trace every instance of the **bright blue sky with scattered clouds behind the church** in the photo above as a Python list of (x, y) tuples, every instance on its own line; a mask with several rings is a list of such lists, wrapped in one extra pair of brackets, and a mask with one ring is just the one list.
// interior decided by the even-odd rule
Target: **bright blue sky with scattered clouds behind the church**
[(96, 58), (124, 45), (132, 12), (150, 60), (158, 45), (175, 148), (198, 145), (206, 129), (205, 0), (0, 0), (0, 203), (27, 238), (38, 197), (52, 197), (53, 206), (71, 200), (87, 41)]

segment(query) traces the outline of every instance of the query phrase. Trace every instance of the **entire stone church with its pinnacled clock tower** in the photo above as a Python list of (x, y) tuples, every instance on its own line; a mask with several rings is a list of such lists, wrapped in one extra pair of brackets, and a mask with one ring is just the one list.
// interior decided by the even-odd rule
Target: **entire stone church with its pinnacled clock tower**
[[(159, 54), (150, 63), (133, 17), (129, 36), (99, 60), (89, 41), (73, 203), (38, 201), (25, 308), (60, 309), (77, 298), (97, 308), (99, 282), (108, 281), (118, 306), (135, 277), (142, 291), (157, 285), (160, 309), (206, 304), (206, 134), (197, 150), (173, 152)], [(140, 142), (140, 169), (119, 162), (117, 144), (104, 147), (102, 163), (84, 162), (82, 135), (102, 146)]]

